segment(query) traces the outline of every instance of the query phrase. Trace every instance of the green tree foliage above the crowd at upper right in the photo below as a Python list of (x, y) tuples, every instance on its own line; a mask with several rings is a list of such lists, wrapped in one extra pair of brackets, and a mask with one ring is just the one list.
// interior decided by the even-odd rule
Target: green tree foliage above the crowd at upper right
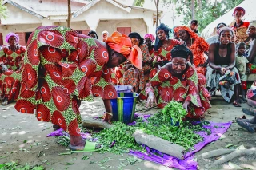
[[(216, 4), (207, 3), (206, 0), (201, 0), (202, 8), (200, 9), (197, 1), (195, 1), (194, 14), (195, 19), (199, 22), (198, 30), (202, 31), (210, 22), (213, 22), (215, 19), (218, 19), (223, 14), (226, 14), (229, 10), (238, 6), (244, 0), (225, 0), (217, 2)], [(215, 6), (216, 5), (216, 6)], [(183, 14), (185, 17), (182, 20), (182, 23), (188, 25), (191, 20), (191, 0), (187, 1), (178, 1), (177, 12), (178, 14)], [(230, 16), (232, 18), (232, 16)], [(225, 22), (225, 21), (223, 21)]]

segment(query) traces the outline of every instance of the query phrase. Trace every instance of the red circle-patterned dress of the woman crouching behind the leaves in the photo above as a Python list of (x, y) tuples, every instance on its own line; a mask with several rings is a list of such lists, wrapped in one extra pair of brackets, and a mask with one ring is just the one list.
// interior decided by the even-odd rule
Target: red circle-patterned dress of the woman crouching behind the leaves
[[(205, 88), (206, 77), (197, 73), (194, 66), (189, 66), (182, 75), (182, 80), (166, 68), (162, 68), (150, 80), (154, 88), (154, 95), (159, 108), (163, 108), (169, 101), (190, 101), (191, 107), (186, 117), (198, 118), (210, 108), (210, 93)], [(140, 94), (142, 100), (146, 99), (146, 91)]]

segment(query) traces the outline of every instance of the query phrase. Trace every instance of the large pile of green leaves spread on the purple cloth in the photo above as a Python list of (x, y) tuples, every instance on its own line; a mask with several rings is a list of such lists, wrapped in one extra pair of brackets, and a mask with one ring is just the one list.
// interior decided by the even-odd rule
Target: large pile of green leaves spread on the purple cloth
[[(186, 110), (182, 108), (182, 104), (170, 101), (162, 109), (162, 112), (154, 114), (148, 119), (148, 122), (144, 122), (142, 118), (136, 120), (136, 125), (133, 126), (114, 122), (113, 128), (95, 133), (94, 137), (105, 146), (102, 152), (120, 154), (129, 152), (129, 149), (143, 152), (145, 149), (137, 144), (134, 136), (132, 136), (136, 129), (142, 129), (146, 134), (158, 136), (164, 140), (179, 144), (186, 148), (186, 151), (189, 151), (194, 144), (202, 141), (202, 137), (194, 133), (194, 128), (190, 127), (193, 126), (192, 124), (186, 123), (183, 125), (182, 119), (185, 116)], [(198, 128), (196, 129), (198, 130)], [(205, 128), (201, 127), (200, 129), (206, 131)]]

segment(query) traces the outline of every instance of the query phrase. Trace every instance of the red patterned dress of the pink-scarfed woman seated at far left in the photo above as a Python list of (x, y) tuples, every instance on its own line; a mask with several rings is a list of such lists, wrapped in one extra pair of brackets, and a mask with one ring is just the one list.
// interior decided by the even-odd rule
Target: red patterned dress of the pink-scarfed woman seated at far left
[(12, 51), (9, 45), (4, 45), (0, 51), (0, 64), (7, 66), (8, 70), (2, 73), (0, 66), (0, 96), (7, 97), (8, 101), (18, 98), (20, 69), (26, 48), (18, 46)]

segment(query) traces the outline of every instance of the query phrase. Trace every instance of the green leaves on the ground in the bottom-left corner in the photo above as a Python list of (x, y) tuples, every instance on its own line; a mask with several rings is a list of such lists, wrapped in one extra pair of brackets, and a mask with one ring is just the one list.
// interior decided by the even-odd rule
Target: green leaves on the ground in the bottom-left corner
[(18, 163), (12, 161), (7, 162), (5, 164), (0, 164), (0, 170), (44, 170), (42, 166), (34, 166), (31, 167), (29, 164), (26, 163), (25, 166), (19, 165)]

